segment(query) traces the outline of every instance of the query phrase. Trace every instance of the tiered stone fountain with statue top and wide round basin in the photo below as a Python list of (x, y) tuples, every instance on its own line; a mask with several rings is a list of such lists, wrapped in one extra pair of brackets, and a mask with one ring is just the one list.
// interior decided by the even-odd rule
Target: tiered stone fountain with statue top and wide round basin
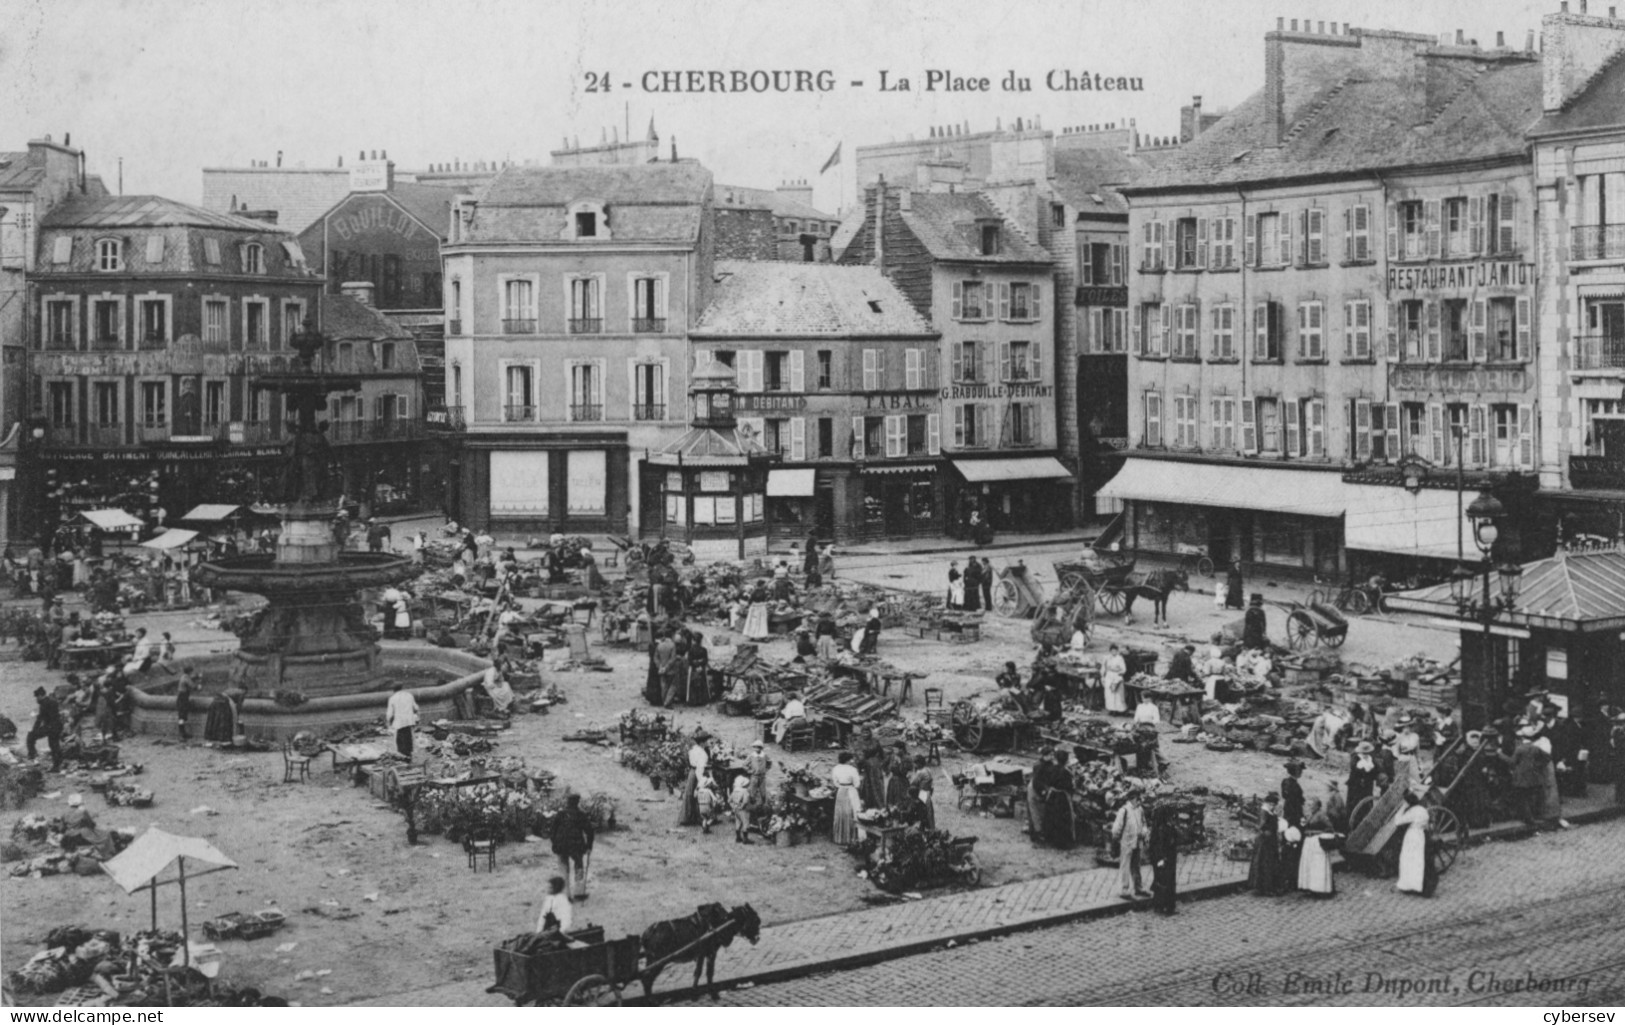
[[(370, 723), (384, 713), (392, 668), (413, 677), (408, 682), (426, 721), (448, 716), (452, 698), (489, 663), (426, 645), (385, 648), (367, 625), (358, 591), (408, 580), (416, 567), (405, 556), (341, 551), (335, 541), (338, 502), (328, 473), (327, 422), (317, 421), (317, 413), (327, 409), (330, 391), (354, 391), (361, 382), (317, 367), (315, 357), (328, 343), (309, 322), (291, 344), (299, 354), (296, 369), (254, 380), (257, 390), (284, 395), (292, 414), (276, 551), (216, 559), (193, 570), (193, 580), (205, 586), (266, 598), (265, 609), (240, 634), (229, 664), (219, 668), (228, 685), (249, 695), (239, 720), (250, 736), (270, 737)], [(418, 685), (426, 676), (450, 682)], [(143, 715), (148, 705), (153, 715)], [(162, 729), (166, 720), (172, 728), (174, 697), (136, 689), (136, 723), (143, 720), (150, 720), (150, 729)]]

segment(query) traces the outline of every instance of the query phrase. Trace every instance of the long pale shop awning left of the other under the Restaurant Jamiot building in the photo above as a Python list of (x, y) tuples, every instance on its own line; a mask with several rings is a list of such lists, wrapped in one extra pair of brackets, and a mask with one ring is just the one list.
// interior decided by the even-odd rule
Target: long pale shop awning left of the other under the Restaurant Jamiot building
[(1095, 494), (1102, 499), (1131, 502), (1341, 517), (1346, 504), (1344, 487), (1342, 471), (1224, 466), (1129, 456), (1123, 469)]

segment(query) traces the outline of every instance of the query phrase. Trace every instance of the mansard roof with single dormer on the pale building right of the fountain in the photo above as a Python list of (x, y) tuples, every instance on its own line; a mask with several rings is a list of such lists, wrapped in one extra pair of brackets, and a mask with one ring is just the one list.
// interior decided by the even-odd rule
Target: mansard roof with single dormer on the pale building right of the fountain
[[(566, 206), (604, 205), (609, 242), (694, 242), (710, 198), (710, 171), (697, 161), (601, 167), (507, 167), (479, 195), (468, 242), (552, 242)], [(592, 242), (585, 242), (592, 245)]]

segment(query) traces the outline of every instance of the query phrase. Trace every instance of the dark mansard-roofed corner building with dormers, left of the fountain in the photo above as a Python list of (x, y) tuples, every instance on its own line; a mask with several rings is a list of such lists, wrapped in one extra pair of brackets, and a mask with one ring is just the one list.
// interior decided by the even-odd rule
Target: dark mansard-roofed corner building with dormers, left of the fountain
[(159, 197), (46, 214), (28, 301), (46, 526), (99, 504), (180, 515), (262, 497), (283, 411), (250, 380), (288, 365), (320, 291), (292, 236), (263, 221)]

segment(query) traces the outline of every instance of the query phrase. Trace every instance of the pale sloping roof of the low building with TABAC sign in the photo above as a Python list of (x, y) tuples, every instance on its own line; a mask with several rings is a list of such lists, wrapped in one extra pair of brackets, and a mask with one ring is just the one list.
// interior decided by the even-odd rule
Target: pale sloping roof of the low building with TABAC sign
[(933, 333), (897, 286), (868, 265), (718, 260), (717, 276), (694, 335)]

